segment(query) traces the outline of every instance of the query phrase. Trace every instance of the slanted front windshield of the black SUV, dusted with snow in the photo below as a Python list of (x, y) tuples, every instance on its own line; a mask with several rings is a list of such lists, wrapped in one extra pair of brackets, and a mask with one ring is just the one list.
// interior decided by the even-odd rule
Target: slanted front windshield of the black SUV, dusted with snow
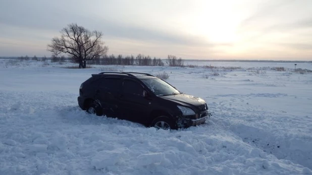
[(142, 82), (157, 96), (181, 94), (181, 92), (161, 79), (142, 79)]

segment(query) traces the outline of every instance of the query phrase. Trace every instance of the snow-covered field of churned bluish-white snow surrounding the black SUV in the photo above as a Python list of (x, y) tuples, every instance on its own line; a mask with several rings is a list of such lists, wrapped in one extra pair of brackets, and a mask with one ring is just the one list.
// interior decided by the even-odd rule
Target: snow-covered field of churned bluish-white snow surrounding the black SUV
[[(312, 174), (312, 73), (257, 63), (78, 70), (8, 62), (0, 60), (0, 174)], [(214, 115), (165, 131), (87, 114), (77, 104), (80, 84), (111, 68), (166, 71)]]

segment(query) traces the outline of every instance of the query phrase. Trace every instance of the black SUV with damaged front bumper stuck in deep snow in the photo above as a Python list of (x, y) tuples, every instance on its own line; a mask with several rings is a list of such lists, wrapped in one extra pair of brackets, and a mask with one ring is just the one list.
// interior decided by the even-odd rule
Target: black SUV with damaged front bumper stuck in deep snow
[(211, 116), (203, 99), (150, 74), (135, 72), (92, 74), (80, 86), (78, 104), (88, 113), (162, 129), (195, 126)]

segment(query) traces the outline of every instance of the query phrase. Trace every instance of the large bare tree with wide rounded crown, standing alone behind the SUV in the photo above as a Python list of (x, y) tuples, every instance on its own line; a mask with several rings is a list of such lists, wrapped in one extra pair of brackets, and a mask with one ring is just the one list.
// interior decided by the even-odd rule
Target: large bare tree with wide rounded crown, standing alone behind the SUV
[(48, 44), (48, 50), (58, 56), (64, 53), (79, 63), (79, 68), (86, 68), (88, 60), (105, 55), (109, 47), (104, 45), (102, 32), (90, 31), (77, 24), (69, 24), (61, 30), (61, 37), (55, 37)]

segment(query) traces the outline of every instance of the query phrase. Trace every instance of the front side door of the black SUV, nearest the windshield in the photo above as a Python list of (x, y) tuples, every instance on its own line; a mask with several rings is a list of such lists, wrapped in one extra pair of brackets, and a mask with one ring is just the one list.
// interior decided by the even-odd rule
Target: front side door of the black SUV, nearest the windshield
[(151, 111), (151, 99), (143, 96), (144, 87), (136, 80), (125, 78), (122, 86), (122, 109), (127, 120), (146, 123)]

